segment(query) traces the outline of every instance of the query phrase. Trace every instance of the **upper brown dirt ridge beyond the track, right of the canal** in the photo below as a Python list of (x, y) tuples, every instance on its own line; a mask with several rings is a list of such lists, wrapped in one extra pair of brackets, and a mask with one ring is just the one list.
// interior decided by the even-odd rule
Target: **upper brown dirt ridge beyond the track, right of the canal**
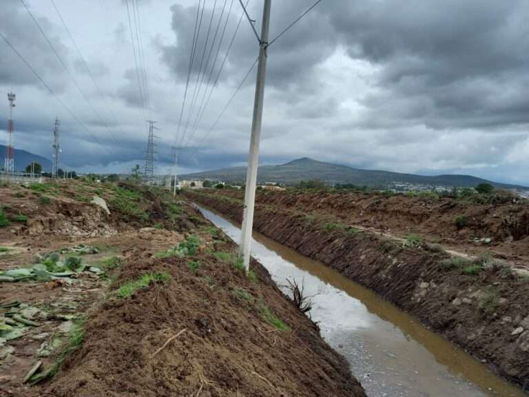
[[(237, 190), (216, 193), (234, 199), (243, 196)], [(467, 254), (490, 252), (517, 267), (527, 268), (529, 263), (529, 205), (519, 199), (479, 204), (402, 194), (262, 191), (256, 195), (256, 202), (314, 216), (331, 216), (339, 222), (402, 238), (415, 233), (426, 241)]]

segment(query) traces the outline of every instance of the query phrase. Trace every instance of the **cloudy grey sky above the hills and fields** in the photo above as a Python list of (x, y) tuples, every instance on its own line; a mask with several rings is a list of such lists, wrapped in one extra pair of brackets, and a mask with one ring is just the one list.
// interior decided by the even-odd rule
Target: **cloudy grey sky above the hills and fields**
[[(175, 143), (178, 174), (245, 165), (259, 47), (239, 1), (137, 0), (136, 19), (133, 1), (1, 0), (0, 33), (54, 94), (0, 37), (0, 142), (12, 90), (15, 147), (51, 158), (59, 117), (63, 168), (143, 167), (147, 119), (157, 174)], [(272, 0), (270, 39), (312, 3)], [(258, 32), (262, 4), (247, 5)], [(528, 14), (526, 0), (322, 0), (268, 48), (260, 164), (529, 185)]]

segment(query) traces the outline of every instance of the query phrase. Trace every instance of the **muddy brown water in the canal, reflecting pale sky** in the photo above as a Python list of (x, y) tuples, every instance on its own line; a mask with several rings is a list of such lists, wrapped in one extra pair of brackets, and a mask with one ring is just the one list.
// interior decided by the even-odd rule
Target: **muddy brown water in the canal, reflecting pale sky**
[[(238, 227), (199, 209), (239, 241)], [(312, 319), (327, 343), (349, 361), (368, 396), (527, 397), (369, 289), (265, 236), (254, 233), (253, 238), (252, 255), (278, 285), (287, 284), (287, 278), (303, 282), (305, 294), (313, 296)]]

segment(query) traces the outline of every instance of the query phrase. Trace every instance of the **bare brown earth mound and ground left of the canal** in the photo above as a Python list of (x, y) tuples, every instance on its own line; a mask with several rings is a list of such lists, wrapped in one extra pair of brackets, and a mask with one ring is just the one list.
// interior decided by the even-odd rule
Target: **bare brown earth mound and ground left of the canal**
[[(14, 351), (0, 362), (0, 395), (365, 396), (346, 360), (324, 343), (318, 327), (278, 290), (259, 263), (251, 264), (258, 276), (254, 282), (217, 258), (216, 252), (232, 252), (234, 245), (185, 201), (167, 201), (163, 192), (153, 195), (143, 190), (141, 205), (148, 217), (127, 223), (128, 215), (112, 205), (108, 216), (86, 199), (64, 193), (78, 192), (79, 186), (58, 187), (50, 195), (52, 203), (42, 207), (37, 201), (40, 195), (23, 188), (0, 188), (0, 203), (8, 205), (8, 216), (18, 212), (28, 216), (27, 224), (0, 227), (0, 246), (11, 249), (0, 256), (0, 270), (31, 263), (36, 253), (79, 243), (101, 247), (100, 254), (84, 255), (83, 263), (123, 258), (121, 267), (108, 271), (110, 278), (83, 272), (72, 285), (0, 283), (0, 303), (18, 300), (42, 310), (34, 318), (39, 327), (28, 328), (6, 343)], [(101, 191), (95, 186), (98, 196), (112, 201), (111, 187)], [(178, 206), (177, 215), (167, 212), (172, 203)], [(31, 234), (28, 227), (41, 218), (70, 219), (72, 213), (85, 218), (74, 223), (83, 235), (61, 234), (59, 223), (43, 222), (39, 234)], [(110, 234), (101, 236), (99, 226), (90, 226), (88, 218), (94, 214)], [(154, 223), (165, 230), (144, 227)], [(46, 229), (50, 226), (55, 228)], [(90, 237), (94, 232), (96, 236)], [(200, 238), (198, 256), (154, 256), (189, 233)], [(196, 261), (200, 265), (194, 271), (191, 264)], [(131, 298), (116, 296), (122, 283), (147, 272), (167, 272), (170, 280), (151, 283)], [(274, 327), (264, 307), (287, 330)], [(61, 328), (67, 319), (85, 317), (83, 343), (68, 354), (54, 379), (33, 387), (22, 385), (41, 343), (57, 336), (66, 343), (70, 334)], [(54, 365), (61, 350), (58, 347), (41, 358), (42, 371)]]

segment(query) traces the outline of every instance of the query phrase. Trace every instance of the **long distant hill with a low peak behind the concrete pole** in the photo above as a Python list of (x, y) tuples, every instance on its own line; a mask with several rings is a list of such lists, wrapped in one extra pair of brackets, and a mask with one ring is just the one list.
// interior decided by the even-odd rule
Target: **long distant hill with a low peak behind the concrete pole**
[[(185, 179), (214, 179), (228, 183), (245, 183), (246, 167), (231, 167), (222, 170), (182, 175)], [(319, 179), (326, 183), (353, 183), (357, 186), (393, 187), (397, 183), (413, 183), (443, 187), (475, 187), (479, 183), (490, 183), (503, 189), (528, 190), (529, 187), (496, 183), (470, 175), (424, 176), (399, 172), (359, 170), (346, 165), (324, 163), (304, 157), (281, 165), (259, 167), (258, 182), (275, 182), (292, 185), (300, 181)]]

